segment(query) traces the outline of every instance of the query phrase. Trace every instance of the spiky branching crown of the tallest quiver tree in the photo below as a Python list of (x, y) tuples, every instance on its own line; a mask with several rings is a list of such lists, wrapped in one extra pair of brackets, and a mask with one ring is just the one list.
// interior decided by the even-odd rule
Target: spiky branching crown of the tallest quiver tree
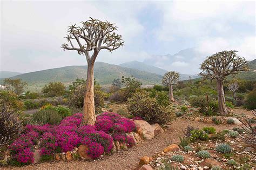
[[(81, 22), (81, 26), (71, 25), (68, 29), (68, 35), (65, 37), (68, 44), (62, 44), (64, 50), (76, 50), (79, 55), (83, 54), (87, 60), (90, 60), (89, 51), (99, 52), (102, 49), (113, 50), (118, 49), (124, 45), (121, 35), (116, 32), (116, 24), (109, 22), (102, 22), (99, 19), (90, 18), (86, 22)], [(78, 47), (76, 47), (72, 40), (75, 39)]]

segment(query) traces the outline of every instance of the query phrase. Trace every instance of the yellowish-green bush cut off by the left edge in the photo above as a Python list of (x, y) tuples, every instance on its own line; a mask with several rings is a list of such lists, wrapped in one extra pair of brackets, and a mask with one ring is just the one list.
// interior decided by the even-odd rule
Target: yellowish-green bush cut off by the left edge
[(22, 113), (23, 102), (18, 99), (17, 94), (12, 91), (0, 90), (0, 111)]

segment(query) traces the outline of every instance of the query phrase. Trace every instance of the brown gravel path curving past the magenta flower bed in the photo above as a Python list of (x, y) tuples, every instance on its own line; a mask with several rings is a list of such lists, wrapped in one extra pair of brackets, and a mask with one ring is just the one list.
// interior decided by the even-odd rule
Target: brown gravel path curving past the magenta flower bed
[(188, 125), (199, 128), (214, 126), (217, 131), (236, 127), (236, 125), (206, 124), (198, 121), (178, 118), (172, 121), (171, 129), (167, 132), (151, 140), (144, 141), (143, 144), (137, 145), (136, 147), (129, 148), (127, 151), (114, 153), (113, 155), (104, 155), (100, 160), (45, 162), (42, 164), (28, 165), (15, 169), (133, 169), (136, 168), (141, 157), (146, 155), (150, 157), (156, 153), (160, 153), (170, 144), (178, 144), (179, 136), (183, 136), (183, 130)]

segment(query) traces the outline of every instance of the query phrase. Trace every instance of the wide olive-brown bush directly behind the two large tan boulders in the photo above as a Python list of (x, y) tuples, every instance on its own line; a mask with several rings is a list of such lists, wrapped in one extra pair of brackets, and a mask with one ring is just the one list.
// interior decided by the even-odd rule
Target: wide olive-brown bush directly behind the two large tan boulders
[(166, 124), (174, 118), (171, 105), (160, 105), (156, 98), (149, 97), (149, 92), (139, 90), (128, 99), (128, 111), (134, 117), (141, 117), (150, 124)]

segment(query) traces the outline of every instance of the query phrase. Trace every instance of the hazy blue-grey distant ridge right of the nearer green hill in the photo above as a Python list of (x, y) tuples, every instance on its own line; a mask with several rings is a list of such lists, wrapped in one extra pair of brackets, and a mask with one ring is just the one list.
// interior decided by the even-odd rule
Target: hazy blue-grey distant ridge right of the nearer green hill
[[(138, 61), (123, 63), (123, 64), (120, 64), (119, 66), (131, 68), (131, 69), (137, 69), (140, 71), (145, 71), (150, 73), (155, 73), (161, 76), (164, 76), (164, 74), (167, 72), (167, 70), (160, 69), (159, 67), (156, 67), (156, 66), (147, 65), (143, 62), (138, 62)], [(180, 74), (180, 80), (188, 80), (190, 79), (190, 77), (191, 79), (194, 79), (194, 78), (198, 78), (199, 76), (191, 75), (191, 74)]]

